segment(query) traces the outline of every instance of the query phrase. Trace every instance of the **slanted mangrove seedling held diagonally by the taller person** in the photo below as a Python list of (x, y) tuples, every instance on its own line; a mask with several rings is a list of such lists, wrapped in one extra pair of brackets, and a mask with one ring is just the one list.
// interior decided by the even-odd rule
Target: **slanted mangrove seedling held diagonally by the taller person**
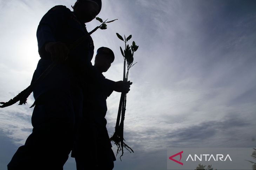
[[(71, 45), (68, 46), (68, 49), (71, 51), (73, 50), (75, 47), (77, 47), (78, 45), (80, 45), (84, 40), (86, 40), (91, 34), (93, 34), (93, 32), (95, 32), (97, 29), (102, 29), (102, 30), (105, 30), (107, 29), (107, 24), (106, 23), (110, 23), (110, 22), (113, 22), (115, 20), (112, 20), (112, 21), (102, 21), (102, 19), (100, 19), (99, 17), (96, 17), (96, 20), (100, 21), (101, 22), (101, 25), (94, 28), (92, 31), (88, 32), (88, 34), (78, 38), (77, 40), (75, 40), (75, 42), (73, 42)], [(32, 83), (30, 86), (28, 86), (25, 90), (21, 91), (21, 93), (19, 93), (17, 96), (15, 96), (13, 99), (10, 99), (8, 102), (0, 102), (0, 104), (2, 104), (0, 106), (0, 108), (5, 108), (7, 106), (11, 106), (13, 105), (14, 103), (19, 102), (19, 105), (22, 105), (22, 104), (26, 104), (27, 103), (27, 98), (28, 96), (32, 93), (34, 87), (36, 86), (36, 84), (38, 84), (41, 80), (43, 80), (53, 69), (53, 67), (55, 67), (56, 65), (58, 64), (57, 61), (54, 61), (52, 62), (52, 64), (50, 64), (46, 69), (45, 71), (38, 77), (38, 79)], [(32, 108), (34, 106), (34, 104), (30, 107)]]

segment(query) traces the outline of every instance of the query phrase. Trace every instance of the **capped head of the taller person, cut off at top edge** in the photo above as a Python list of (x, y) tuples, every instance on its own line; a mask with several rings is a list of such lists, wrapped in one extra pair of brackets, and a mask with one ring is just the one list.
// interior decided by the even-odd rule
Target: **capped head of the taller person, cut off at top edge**
[(101, 0), (77, 0), (72, 8), (76, 17), (83, 23), (87, 23), (100, 13)]

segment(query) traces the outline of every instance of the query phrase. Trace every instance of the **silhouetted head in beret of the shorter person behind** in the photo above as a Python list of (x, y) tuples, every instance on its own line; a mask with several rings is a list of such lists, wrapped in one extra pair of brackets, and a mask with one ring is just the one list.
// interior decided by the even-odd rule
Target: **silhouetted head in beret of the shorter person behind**
[(94, 60), (94, 66), (101, 72), (108, 71), (111, 63), (114, 61), (114, 52), (107, 47), (100, 47)]

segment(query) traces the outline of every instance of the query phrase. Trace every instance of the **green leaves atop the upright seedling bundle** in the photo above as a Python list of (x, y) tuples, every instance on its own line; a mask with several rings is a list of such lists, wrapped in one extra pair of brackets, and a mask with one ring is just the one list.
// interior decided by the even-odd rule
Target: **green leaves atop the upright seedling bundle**
[[(124, 38), (116, 33), (117, 37), (121, 39), (125, 44), (132, 38), (132, 35), (129, 35), (127, 38), (124, 36)], [(125, 45), (125, 49), (123, 50), (122, 47), (120, 47), (120, 51), (122, 53), (122, 56), (124, 57), (125, 60), (127, 60), (128, 65), (132, 65), (133, 63), (133, 54), (135, 51), (137, 51), (139, 46), (135, 44), (133, 41), (132, 45), (129, 46), (129, 44)]]

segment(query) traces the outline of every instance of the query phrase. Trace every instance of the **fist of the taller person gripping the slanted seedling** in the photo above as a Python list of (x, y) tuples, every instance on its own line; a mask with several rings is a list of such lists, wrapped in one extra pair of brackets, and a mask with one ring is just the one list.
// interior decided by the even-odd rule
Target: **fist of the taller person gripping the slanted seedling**
[(45, 51), (50, 53), (52, 61), (65, 61), (68, 58), (68, 47), (60, 41), (46, 43)]

